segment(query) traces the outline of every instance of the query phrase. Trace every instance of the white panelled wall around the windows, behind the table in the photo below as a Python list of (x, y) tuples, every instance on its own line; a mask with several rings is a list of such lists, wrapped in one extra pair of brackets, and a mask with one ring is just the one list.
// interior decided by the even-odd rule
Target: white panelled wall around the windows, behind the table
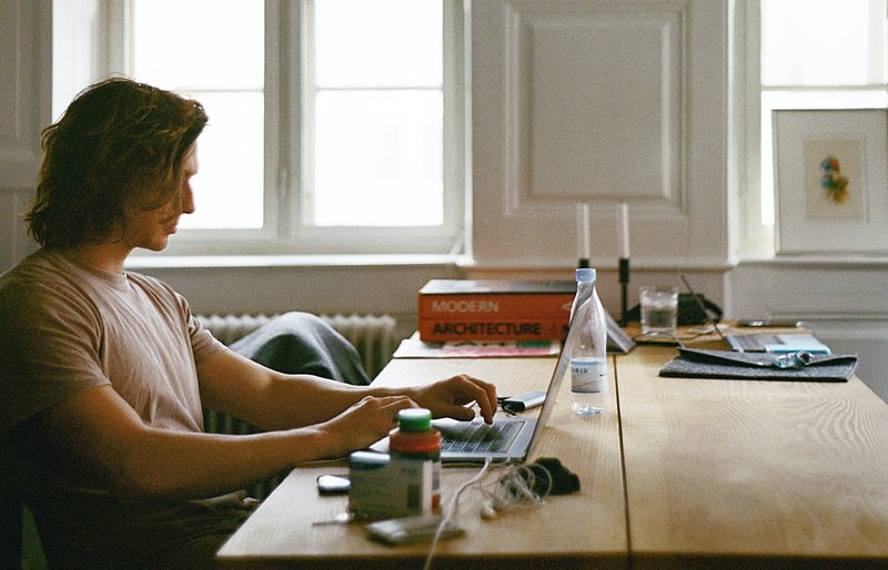
[[(433, 277), (573, 277), (575, 204), (592, 211), (592, 261), (619, 311), (617, 203), (630, 204), (630, 304), (675, 267), (729, 317), (808, 320), (888, 397), (888, 259), (736, 262), (728, 227), (730, 0), (473, 3), (474, 258), (145, 268), (198, 312), (374, 312), (415, 319)], [(49, 124), (51, 0), (0, 0), (0, 271), (33, 248), (19, 213)], [(740, 85), (741, 86), (741, 85)], [(736, 146), (735, 146), (736, 149)], [(743, 159), (743, 156), (740, 156)], [(341, 263), (340, 263), (341, 262)]]

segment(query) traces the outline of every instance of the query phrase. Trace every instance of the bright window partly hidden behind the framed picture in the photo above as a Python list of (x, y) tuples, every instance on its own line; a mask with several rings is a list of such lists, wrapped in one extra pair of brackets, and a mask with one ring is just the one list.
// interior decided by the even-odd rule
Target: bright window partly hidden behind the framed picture
[(888, 108), (886, 10), (886, 0), (748, 2), (747, 82), (758, 119), (748, 125), (747, 185), (760, 187), (744, 204), (753, 248), (773, 244), (771, 111)]

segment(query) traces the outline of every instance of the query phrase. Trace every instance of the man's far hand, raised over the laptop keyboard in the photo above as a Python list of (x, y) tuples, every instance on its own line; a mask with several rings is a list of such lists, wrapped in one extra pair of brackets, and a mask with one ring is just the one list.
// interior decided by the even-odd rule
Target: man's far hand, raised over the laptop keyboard
[(496, 414), (496, 387), (493, 384), (461, 374), (427, 386), (417, 386), (407, 391), (408, 396), (423, 408), (432, 410), (436, 418), (451, 417), (468, 420), (475, 411), (467, 404), (476, 403), (487, 424)]

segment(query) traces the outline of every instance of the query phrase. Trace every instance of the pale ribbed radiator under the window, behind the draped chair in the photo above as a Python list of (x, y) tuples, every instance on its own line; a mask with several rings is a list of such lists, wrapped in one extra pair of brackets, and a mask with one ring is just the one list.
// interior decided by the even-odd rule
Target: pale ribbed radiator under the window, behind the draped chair
[[(266, 324), (274, 316), (265, 315), (198, 315), (201, 324), (215, 338), (231, 345)], [(395, 348), (396, 320), (389, 315), (321, 315), (330, 326), (349, 339), (357, 349), (367, 375), (373, 378), (389, 363)], [(255, 432), (256, 428), (228, 414), (204, 409), (204, 428), (214, 434), (244, 435)], [(264, 499), (283, 480), (286, 474), (279, 474), (248, 489), (251, 497)]]

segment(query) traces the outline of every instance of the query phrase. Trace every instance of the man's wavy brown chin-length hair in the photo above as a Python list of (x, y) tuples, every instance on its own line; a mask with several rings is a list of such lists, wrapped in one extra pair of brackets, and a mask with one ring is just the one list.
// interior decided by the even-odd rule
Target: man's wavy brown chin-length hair
[(199, 102), (170, 91), (125, 78), (90, 85), (42, 132), (28, 232), (59, 248), (122, 237), (128, 207), (178, 196), (184, 159), (206, 121)]

